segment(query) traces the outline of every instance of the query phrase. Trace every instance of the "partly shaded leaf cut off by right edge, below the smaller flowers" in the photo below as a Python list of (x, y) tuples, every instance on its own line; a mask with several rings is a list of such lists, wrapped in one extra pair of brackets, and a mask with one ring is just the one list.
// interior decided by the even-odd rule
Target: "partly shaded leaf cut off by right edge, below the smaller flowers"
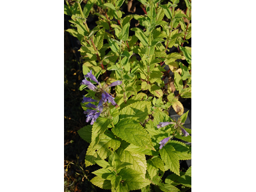
[(170, 141), (170, 145), (175, 148), (175, 153), (179, 157), (179, 160), (191, 159), (191, 147), (188, 147), (185, 143), (180, 141)]

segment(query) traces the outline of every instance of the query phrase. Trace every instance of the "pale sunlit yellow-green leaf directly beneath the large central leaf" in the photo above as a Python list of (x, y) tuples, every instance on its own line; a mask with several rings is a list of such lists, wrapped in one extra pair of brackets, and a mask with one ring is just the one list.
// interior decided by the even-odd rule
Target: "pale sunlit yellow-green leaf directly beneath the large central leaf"
[(145, 155), (136, 154), (128, 150), (120, 150), (118, 156), (122, 162), (131, 163), (126, 166), (127, 168), (143, 173), (143, 175), (146, 174), (147, 162)]

